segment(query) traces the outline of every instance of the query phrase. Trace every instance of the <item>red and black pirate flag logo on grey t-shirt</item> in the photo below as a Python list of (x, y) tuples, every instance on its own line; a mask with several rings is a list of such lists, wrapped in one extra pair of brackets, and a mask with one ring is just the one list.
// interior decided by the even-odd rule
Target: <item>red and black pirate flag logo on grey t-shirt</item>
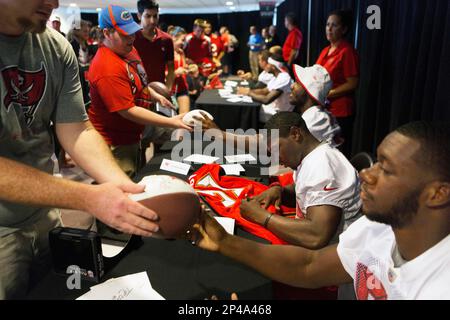
[(3, 105), (7, 111), (13, 104), (19, 105), (29, 127), (45, 91), (47, 73), (44, 64), (41, 63), (41, 68), (36, 71), (9, 66), (1, 73), (6, 88)]

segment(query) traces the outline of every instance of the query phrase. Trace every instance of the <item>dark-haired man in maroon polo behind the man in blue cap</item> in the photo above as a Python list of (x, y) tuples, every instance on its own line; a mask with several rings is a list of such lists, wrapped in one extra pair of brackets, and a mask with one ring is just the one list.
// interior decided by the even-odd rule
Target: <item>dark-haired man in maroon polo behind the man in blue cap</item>
[(134, 47), (142, 58), (148, 81), (162, 82), (172, 89), (175, 79), (173, 42), (170, 35), (157, 28), (159, 5), (152, 0), (139, 0), (137, 7), (143, 29), (136, 32)]

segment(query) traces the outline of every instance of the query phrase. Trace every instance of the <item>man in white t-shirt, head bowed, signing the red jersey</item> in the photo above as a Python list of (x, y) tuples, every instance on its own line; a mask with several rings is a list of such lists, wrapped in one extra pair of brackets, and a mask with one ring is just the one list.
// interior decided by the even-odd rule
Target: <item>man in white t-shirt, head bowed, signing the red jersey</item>
[[(241, 215), (291, 244), (320, 249), (336, 243), (360, 213), (358, 173), (339, 150), (314, 138), (298, 113), (278, 112), (266, 128), (278, 130), (279, 138), (268, 141), (269, 149), (277, 148), (280, 164), (296, 170), (295, 183), (273, 186), (243, 201)], [(281, 203), (295, 204), (297, 219), (266, 210), (272, 204), (279, 209)]]

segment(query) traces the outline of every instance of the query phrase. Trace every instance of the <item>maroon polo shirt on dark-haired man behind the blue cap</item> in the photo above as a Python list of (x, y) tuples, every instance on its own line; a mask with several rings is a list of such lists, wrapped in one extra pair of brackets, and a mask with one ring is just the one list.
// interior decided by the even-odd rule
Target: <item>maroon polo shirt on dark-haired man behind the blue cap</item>
[(152, 41), (142, 31), (136, 32), (134, 47), (142, 58), (149, 82), (166, 82), (166, 65), (173, 61), (173, 41), (170, 35), (156, 28)]

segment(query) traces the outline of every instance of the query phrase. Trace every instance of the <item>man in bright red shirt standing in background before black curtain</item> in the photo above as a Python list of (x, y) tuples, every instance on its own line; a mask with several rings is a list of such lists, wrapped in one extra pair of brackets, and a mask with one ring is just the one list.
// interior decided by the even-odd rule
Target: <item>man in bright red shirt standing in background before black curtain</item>
[(291, 68), (293, 63), (300, 64), (299, 52), (302, 46), (303, 35), (297, 27), (297, 19), (294, 13), (290, 12), (286, 15), (284, 25), (289, 30), (289, 34), (283, 45), (283, 59)]

